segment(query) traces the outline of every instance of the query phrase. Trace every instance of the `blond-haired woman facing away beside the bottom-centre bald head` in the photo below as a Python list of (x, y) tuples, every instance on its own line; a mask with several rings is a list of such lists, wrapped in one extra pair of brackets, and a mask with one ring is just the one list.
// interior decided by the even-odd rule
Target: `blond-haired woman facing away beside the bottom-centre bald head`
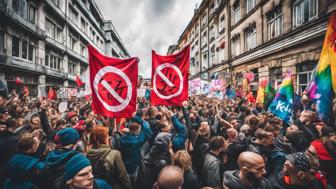
[(190, 155), (186, 150), (179, 150), (173, 157), (173, 165), (180, 167), (184, 172), (184, 182), (182, 189), (198, 189), (200, 184), (196, 175), (192, 172), (192, 164)]

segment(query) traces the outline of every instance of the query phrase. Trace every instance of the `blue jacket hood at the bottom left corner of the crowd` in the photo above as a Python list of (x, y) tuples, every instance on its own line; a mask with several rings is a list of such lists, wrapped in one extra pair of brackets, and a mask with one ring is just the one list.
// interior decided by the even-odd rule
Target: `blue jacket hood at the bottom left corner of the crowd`
[(7, 167), (8, 176), (11, 179), (16, 180), (30, 175), (33, 168), (43, 170), (46, 168), (46, 165), (35, 157), (17, 154), (9, 160)]

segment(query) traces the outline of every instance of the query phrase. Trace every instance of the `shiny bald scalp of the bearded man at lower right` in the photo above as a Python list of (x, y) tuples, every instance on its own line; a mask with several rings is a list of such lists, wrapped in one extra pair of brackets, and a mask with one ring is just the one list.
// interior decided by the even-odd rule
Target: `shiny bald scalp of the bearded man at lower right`
[(251, 167), (254, 165), (264, 165), (264, 159), (261, 155), (254, 152), (243, 152), (238, 157), (238, 166), (239, 169), (243, 167)]

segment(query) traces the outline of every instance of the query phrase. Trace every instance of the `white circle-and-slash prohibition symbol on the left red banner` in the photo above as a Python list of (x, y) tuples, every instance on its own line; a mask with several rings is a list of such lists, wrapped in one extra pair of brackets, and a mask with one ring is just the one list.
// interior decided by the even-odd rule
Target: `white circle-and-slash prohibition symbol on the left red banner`
[[(117, 75), (119, 75), (122, 79), (125, 80), (126, 85), (127, 85), (127, 95), (126, 95), (126, 99), (123, 99), (108, 83), (106, 80), (104, 80), (104, 76), (107, 73), (115, 73)], [(98, 84), (101, 83), (105, 89), (120, 103), (117, 106), (112, 106), (109, 105), (106, 101), (104, 101), (102, 99), (102, 97), (100, 96), (99, 92), (98, 92)], [(125, 109), (129, 102), (131, 101), (131, 97), (132, 97), (132, 83), (129, 80), (129, 78), (127, 77), (127, 75), (122, 72), (121, 70), (119, 70), (116, 67), (113, 66), (106, 66), (102, 69), (100, 69), (94, 80), (93, 80), (93, 88), (94, 88), (94, 92), (96, 93), (98, 100), (103, 104), (104, 108), (106, 108), (108, 111), (111, 112), (119, 112), (123, 109)]]

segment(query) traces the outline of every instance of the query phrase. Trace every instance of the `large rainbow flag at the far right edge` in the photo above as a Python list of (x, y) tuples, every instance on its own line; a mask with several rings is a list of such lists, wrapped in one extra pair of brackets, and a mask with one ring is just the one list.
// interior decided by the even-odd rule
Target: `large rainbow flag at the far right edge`
[(316, 104), (319, 118), (328, 123), (330, 120), (333, 91), (336, 92), (336, 14), (329, 19), (324, 38), (320, 61), (307, 86), (308, 96)]

